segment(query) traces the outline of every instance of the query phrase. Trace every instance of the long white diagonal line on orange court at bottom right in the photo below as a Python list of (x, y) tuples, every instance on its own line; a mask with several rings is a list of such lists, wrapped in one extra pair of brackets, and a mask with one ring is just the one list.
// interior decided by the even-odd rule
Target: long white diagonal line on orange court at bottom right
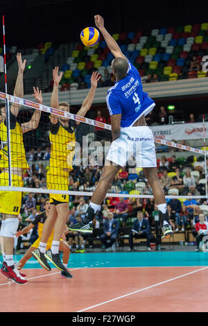
[(114, 299), (111, 299), (111, 300), (107, 300), (107, 301), (104, 301), (104, 302), (101, 302), (101, 303), (98, 303), (98, 304), (95, 304), (94, 306), (92, 307), (87, 307), (85, 309), (82, 309), (82, 310), (79, 310), (77, 312), (83, 312), (83, 311), (86, 311), (86, 310), (89, 310), (89, 309), (92, 309), (92, 308), (96, 308), (96, 307), (99, 307), (101, 306), (102, 304), (106, 304), (106, 303), (109, 303), (109, 302), (112, 302), (112, 301), (116, 301), (116, 300), (119, 300), (119, 299), (122, 299), (122, 298), (125, 298), (125, 297), (128, 297), (129, 295), (132, 295), (132, 294), (135, 294), (135, 293), (139, 293), (141, 291), (145, 291), (145, 290), (148, 290), (148, 289), (152, 289), (153, 287), (155, 286), (159, 286), (159, 285), (162, 285), (162, 284), (165, 284), (167, 282), (171, 282), (171, 281), (174, 281), (174, 280), (177, 280), (178, 278), (180, 277), (184, 277), (184, 276), (187, 276), (187, 275), (191, 275), (193, 273), (196, 273), (196, 272), (200, 272), (200, 271), (204, 271), (205, 269), (207, 269), (208, 266), (204, 267), (204, 268), (200, 268), (196, 271), (192, 271), (192, 272), (189, 272), (189, 273), (186, 273), (186, 274), (183, 274), (183, 275), (180, 275), (180, 276), (177, 276), (177, 277), (173, 277), (171, 278), (170, 280), (166, 280), (164, 282), (160, 282), (160, 283), (157, 283), (157, 284), (153, 284), (153, 285), (150, 285), (150, 286), (147, 286), (146, 288), (144, 289), (139, 289), (137, 291), (134, 291), (134, 292), (131, 292), (131, 293), (128, 293), (128, 294), (125, 294), (125, 295), (121, 295), (120, 297), (117, 297), (117, 298), (114, 298)]

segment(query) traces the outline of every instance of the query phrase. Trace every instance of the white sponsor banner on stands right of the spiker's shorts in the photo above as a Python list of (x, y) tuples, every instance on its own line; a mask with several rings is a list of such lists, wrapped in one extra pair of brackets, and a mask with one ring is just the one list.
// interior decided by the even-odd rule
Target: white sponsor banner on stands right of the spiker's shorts
[[(155, 138), (165, 140), (203, 139), (202, 122), (179, 123), (175, 125), (150, 126)], [(208, 138), (208, 122), (205, 122), (205, 138)]]

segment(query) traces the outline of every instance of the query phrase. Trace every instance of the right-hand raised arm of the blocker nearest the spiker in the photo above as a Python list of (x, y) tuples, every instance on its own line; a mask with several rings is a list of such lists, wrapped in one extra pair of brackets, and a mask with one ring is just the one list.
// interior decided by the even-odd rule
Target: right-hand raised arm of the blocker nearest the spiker
[[(91, 88), (89, 90), (87, 97), (85, 98), (85, 101), (83, 102), (83, 105), (81, 106), (80, 110), (77, 112), (77, 115), (79, 115), (80, 117), (85, 117), (85, 114), (91, 108), (92, 102), (94, 100), (94, 94), (95, 94), (96, 88), (98, 86), (98, 80), (100, 80), (100, 78), (101, 78), (101, 75), (98, 74), (97, 71), (94, 71), (92, 73), (92, 77), (90, 79), (91, 80)], [(79, 122), (76, 121), (76, 123), (78, 124)]]

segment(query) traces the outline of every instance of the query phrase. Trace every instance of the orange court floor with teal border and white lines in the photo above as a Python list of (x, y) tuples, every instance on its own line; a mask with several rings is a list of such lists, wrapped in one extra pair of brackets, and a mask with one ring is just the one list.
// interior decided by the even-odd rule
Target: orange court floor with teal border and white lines
[[(15, 261), (21, 255), (15, 256)], [(1, 312), (207, 312), (208, 253), (187, 250), (71, 254), (73, 279), (31, 258), (28, 284), (0, 276)], [(52, 267), (53, 265), (51, 265)]]

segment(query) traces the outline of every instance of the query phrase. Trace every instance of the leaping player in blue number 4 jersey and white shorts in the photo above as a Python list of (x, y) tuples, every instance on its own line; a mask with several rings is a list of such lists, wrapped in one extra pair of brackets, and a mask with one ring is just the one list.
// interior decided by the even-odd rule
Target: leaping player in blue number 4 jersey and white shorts
[(111, 116), (112, 144), (107, 153), (103, 174), (92, 195), (85, 218), (69, 229), (92, 233), (90, 222), (100, 208), (114, 176), (133, 156), (137, 166), (143, 168), (153, 189), (155, 203), (160, 213), (162, 237), (169, 238), (173, 235), (173, 230), (168, 223), (164, 191), (157, 175), (153, 132), (148, 128), (145, 120), (146, 115), (155, 107), (155, 103), (143, 91), (139, 72), (123, 55), (119, 45), (106, 31), (104, 20), (100, 15), (95, 16), (95, 24), (115, 57), (112, 60), (112, 73), (116, 77), (116, 83), (108, 90), (106, 98)]

